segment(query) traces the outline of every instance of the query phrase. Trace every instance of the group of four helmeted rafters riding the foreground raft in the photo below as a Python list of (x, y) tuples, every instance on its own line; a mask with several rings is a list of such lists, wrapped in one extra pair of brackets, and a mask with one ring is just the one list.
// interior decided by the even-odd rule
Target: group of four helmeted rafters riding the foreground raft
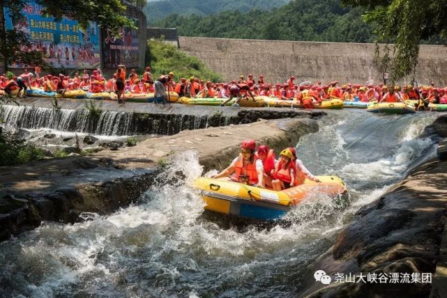
[(320, 182), (312, 175), (303, 162), (296, 157), (295, 148), (285, 148), (280, 158), (266, 145), (256, 148), (255, 140), (241, 143), (241, 154), (217, 175), (215, 179), (227, 179), (245, 185), (281, 191), (302, 185), (305, 179)]

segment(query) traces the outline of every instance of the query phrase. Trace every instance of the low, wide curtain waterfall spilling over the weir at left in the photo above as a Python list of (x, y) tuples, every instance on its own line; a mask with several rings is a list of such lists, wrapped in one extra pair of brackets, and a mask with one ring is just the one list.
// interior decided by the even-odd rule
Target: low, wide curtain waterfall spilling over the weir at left
[(185, 114), (148, 114), (103, 111), (97, 118), (84, 109), (50, 109), (4, 105), (0, 118), (6, 127), (24, 129), (49, 128), (66, 132), (102, 135), (177, 134), (210, 126), (237, 124), (237, 116), (200, 116)]

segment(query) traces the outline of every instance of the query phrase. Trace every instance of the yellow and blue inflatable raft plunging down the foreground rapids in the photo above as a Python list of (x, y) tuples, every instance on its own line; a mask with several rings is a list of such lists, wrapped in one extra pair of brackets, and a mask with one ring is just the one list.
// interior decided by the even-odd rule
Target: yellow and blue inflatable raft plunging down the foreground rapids
[(263, 221), (280, 219), (308, 194), (339, 196), (347, 192), (337, 176), (317, 176), (321, 182), (305, 180), (303, 185), (282, 191), (261, 189), (238, 182), (198, 178), (194, 187), (199, 189), (206, 210)]

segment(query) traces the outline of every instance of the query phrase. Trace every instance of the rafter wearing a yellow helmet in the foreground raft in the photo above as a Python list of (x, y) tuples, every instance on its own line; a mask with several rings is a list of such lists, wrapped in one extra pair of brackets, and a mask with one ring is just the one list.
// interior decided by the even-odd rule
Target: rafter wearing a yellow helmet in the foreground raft
[(272, 180), (272, 187), (275, 191), (282, 191), (282, 189), (296, 186), (294, 155), (289, 149), (280, 152), (280, 159), (276, 162), (271, 174), (274, 178)]

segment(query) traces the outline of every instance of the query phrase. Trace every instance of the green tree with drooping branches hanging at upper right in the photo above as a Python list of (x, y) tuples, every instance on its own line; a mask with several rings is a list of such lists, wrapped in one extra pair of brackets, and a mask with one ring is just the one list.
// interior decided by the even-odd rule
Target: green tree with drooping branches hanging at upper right
[[(439, 44), (441, 39), (446, 44), (447, 0), (342, 0), (342, 4), (368, 10), (363, 19), (375, 26), (376, 58), (391, 71), (392, 82), (407, 75), (414, 78), (421, 41)], [(393, 59), (391, 52), (379, 50), (379, 42), (394, 42)]]

